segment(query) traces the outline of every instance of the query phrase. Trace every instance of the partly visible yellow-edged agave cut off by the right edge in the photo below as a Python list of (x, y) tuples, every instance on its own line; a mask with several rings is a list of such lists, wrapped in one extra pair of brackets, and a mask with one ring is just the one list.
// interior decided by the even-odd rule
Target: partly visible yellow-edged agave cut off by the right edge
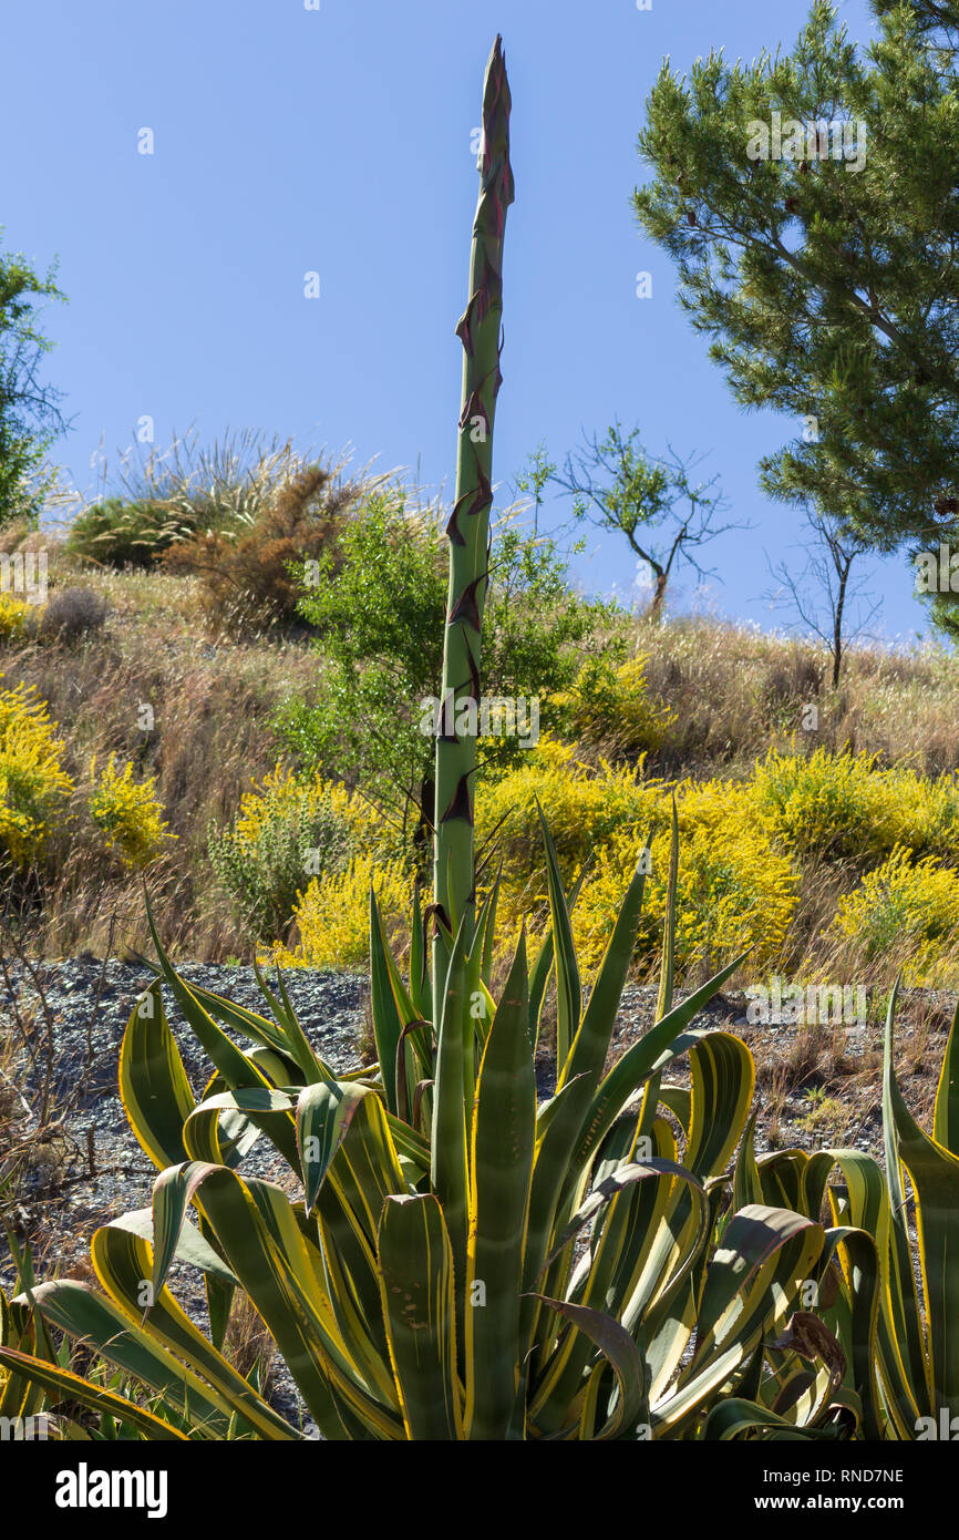
[[(822, 1270), (817, 1312), (844, 1349), (842, 1395), (862, 1435), (950, 1438), (959, 1431), (959, 1012), (930, 1137), (896, 1080), (896, 1003), (897, 989), (885, 1027), (885, 1170), (854, 1149), (780, 1150), (757, 1161), (750, 1126), (734, 1190), (739, 1203), (785, 1203), (808, 1215), (828, 1206), (830, 1269)], [(730, 1406), (720, 1414), (733, 1415)]]

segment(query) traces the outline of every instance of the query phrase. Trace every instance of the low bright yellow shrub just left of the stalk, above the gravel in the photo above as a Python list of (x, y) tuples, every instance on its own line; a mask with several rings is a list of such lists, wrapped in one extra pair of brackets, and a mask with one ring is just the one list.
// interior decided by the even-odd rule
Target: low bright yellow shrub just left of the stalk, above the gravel
[(299, 944), (274, 946), (280, 967), (369, 967), (369, 884), (377, 895), (386, 936), (409, 924), (413, 869), (382, 861), (373, 852), (354, 856), (345, 872), (312, 878), (294, 915)]

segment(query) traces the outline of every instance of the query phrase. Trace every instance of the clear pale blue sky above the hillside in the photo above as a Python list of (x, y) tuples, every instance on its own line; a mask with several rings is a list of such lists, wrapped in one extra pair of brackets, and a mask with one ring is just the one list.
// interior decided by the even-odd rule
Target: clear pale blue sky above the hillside
[[(707, 605), (762, 627), (764, 551), (799, 514), (757, 485), (760, 454), (800, 425), (745, 414), (676, 303), (670, 260), (636, 226), (643, 103), (725, 48), (791, 46), (805, 0), (5, 0), (0, 225), (5, 249), (58, 259), (68, 306), (45, 313), (46, 377), (72, 416), (57, 457), (195, 425), (259, 428), (453, 490), (482, 74), (503, 34), (516, 203), (505, 254), (500, 500), (525, 456), (554, 457), (613, 417), (651, 453), (708, 454), (730, 517)], [(853, 38), (873, 25), (840, 6)], [(154, 154), (139, 152), (139, 131)], [(320, 274), (306, 299), (303, 274)], [(653, 297), (636, 297), (639, 271)], [(563, 514), (562, 504), (546, 508)], [(628, 596), (628, 548), (594, 537), (583, 585)], [(877, 627), (908, 641), (925, 611), (902, 559), (873, 564)], [(693, 582), (677, 594), (694, 601)]]

